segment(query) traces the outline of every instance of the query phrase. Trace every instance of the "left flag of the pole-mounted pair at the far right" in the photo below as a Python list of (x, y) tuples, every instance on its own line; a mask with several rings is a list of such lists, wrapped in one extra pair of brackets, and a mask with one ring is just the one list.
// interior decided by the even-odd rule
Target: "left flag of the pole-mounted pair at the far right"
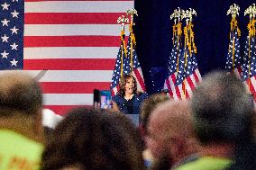
[(240, 36), (241, 32), (238, 28), (235, 18), (231, 22), (229, 49), (226, 55), (225, 69), (228, 72), (235, 73), (238, 77), (242, 76), (242, 57), (240, 55)]

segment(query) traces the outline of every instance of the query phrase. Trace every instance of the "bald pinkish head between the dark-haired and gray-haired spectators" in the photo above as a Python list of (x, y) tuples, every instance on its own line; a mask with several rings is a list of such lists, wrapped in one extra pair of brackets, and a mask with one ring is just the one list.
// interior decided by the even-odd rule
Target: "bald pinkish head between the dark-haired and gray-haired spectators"
[(166, 157), (176, 164), (197, 152), (197, 140), (192, 126), (189, 104), (185, 101), (160, 103), (151, 113), (147, 145), (160, 160)]

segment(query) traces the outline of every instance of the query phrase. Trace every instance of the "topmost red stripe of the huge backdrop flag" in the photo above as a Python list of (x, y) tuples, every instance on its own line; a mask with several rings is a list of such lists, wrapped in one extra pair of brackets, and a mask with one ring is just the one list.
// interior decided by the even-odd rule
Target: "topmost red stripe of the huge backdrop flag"
[[(25, 24), (116, 24), (125, 13), (25, 13)], [(41, 20), (41, 18), (46, 18)], [(117, 32), (118, 33), (118, 32)]]

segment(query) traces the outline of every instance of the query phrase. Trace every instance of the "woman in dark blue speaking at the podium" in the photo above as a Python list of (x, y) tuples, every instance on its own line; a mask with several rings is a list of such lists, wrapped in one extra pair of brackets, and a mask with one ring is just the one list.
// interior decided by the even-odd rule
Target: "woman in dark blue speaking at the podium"
[(132, 75), (124, 75), (119, 82), (119, 90), (113, 96), (113, 109), (129, 116), (139, 126), (140, 107), (147, 97), (146, 93), (137, 91), (137, 82)]

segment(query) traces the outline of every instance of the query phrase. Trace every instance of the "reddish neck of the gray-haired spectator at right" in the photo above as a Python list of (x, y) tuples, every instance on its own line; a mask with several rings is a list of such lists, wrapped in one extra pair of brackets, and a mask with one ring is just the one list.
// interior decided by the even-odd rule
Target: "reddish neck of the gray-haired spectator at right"
[(232, 143), (210, 143), (202, 147), (200, 155), (208, 157), (233, 158), (234, 144)]

